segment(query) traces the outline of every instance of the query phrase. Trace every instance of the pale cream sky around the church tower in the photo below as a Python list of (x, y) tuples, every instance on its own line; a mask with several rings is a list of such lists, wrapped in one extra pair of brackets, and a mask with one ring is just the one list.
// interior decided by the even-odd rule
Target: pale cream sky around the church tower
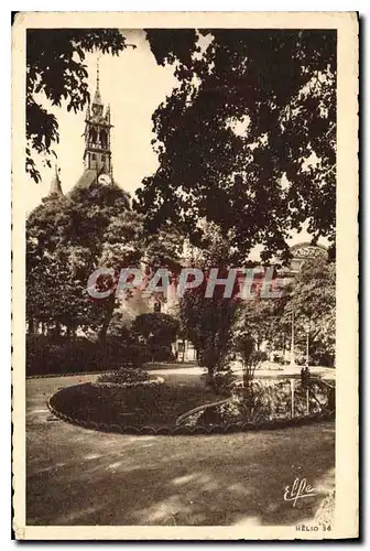
[[(137, 48), (127, 48), (119, 56), (99, 56), (100, 93), (105, 105), (111, 109), (111, 150), (115, 181), (127, 192), (133, 193), (143, 177), (155, 172), (159, 163), (151, 140), (152, 114), (171, 94), (177, 79), (172, 67), (156, 65), (145, 33), (141, 30), (123, 31), (127, 42)], [(88, 84), (91, 97), (96, 89), (96, 68), (98, 55), (87, 54), (85, 63), (89, 74)], [(59, 143), (55, 144), (57, 163), (61, 170), (63, 192), (68, 192), (84, 172), (84, 127), (85, 111), (74, 114), (66, 106), (52, 108), (46, 99), (43, 105), (54, 112), (59, 123)], [(32, 210), (48, 193), (55, 168), (43, 168), (35, 156), (42, 183), (35, 184), (33, 194), (28, 194), (26, 212)]]

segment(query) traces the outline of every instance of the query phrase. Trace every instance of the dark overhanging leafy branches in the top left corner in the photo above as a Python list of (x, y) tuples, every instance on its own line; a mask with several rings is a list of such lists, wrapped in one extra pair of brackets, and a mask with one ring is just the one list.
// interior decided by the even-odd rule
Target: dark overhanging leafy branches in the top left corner
[(53, 142), (58, 142), (57, 119), (43, 107), (40, 95), (52, 106), (59, 107), (65, 102), (68, 111), (81, 110), (90, 98), (85, 53), (98, 50), (118, 55), (126, 47), (126, 39), (118, 30), (28, 30), (25, 169), (36, 183), (41, 176), (32, 152), (46, 155), (50, 165)]

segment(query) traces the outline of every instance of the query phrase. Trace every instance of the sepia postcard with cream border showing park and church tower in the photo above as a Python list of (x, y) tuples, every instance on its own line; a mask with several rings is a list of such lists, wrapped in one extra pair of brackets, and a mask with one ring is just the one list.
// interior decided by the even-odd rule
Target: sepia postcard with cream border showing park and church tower
[(12, 48), (15, 538), (356, 538), (357, 14)]

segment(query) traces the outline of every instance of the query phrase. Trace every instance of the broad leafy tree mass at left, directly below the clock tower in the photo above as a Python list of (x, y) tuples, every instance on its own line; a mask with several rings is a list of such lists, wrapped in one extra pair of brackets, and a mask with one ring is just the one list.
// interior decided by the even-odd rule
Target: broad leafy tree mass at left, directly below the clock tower
[[(29, 217), (26, 227), (28, 321), (48, 326), (62, 324), (98, 331), (105, 342), (115, 310), (131, 295), (116, 296), (122, 268), (140, 268), (145, 259), (175, 263), (182, 247), (171, 231), (148, 237), (143, 217), (130, 208), (128, 195), (117, 185), (92, 184), (68, 197), (46, 199)], [(166, 237), (168, 236), (168, 239)], [(112, 289), (105, 299), (87, 292), (97, 268), (112, 268), (112, 281), (98, 281), (99, 290)], [(106, 287), (104, 287), (106, 285)]]

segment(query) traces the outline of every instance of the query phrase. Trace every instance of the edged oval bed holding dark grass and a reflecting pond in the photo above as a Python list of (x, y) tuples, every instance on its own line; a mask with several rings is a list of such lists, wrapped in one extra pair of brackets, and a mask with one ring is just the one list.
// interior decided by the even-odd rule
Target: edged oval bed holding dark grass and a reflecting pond
[(313, 385), (313, 390), (307, 415), (305, 389), (296, 381), (294, 418), (289, 381), (271, 380), (253, 382), (252, 404), (243, 389), (220, 400), (199, 386), (123, 386), (102, 381), (64, 388), (52, 396), (48, 407), (59, 418), (90, 429), (135, 434), (207, 434), (333, 418), (330, 390), (319, 383)]

